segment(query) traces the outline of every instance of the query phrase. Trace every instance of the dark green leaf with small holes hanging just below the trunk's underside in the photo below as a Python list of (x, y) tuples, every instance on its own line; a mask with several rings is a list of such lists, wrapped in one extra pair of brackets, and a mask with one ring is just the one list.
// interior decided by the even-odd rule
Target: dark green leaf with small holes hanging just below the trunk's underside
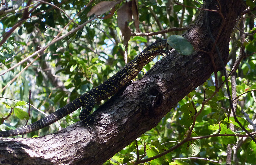
[(195, 115), (195, 108), (193, 107), (192, 103), (182, 105), (180, 111), (184, 113), (184, 116), (179, 123), (186, 128), (190, 127), (193, 123), (193, 118)]

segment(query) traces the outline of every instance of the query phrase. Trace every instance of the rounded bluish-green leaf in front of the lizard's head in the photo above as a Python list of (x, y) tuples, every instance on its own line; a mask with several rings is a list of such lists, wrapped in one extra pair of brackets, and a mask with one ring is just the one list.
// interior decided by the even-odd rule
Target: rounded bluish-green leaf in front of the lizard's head
[(182, 55), (190, 55), (194, 48), (184, 37), (180, 35), (171, 35), (167, 38), (167, 43)]

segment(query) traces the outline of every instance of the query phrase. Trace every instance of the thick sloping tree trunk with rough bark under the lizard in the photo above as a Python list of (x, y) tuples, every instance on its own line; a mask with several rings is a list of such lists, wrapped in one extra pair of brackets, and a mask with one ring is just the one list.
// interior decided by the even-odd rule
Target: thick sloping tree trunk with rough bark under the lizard
[[(229, 38), (238, 15), (246, 6), (240, 0), (209, 0), (184, 37), (195, 48), (211, 52), (213, 37), (220, 31), (217, 46), (224, 64), (229, 55)], [(208, 6), (208, 7), (207, 7)], [(218, 6), (218, 7), (217, 7)], [(209, 25), (210, 24), (210, 25)], [(216, 68), (221, 60), (212, 54)], [(8, 164), (95, 164), (99, 165), (129, 145), (161, 118), (189, 92), (213, 73), (210, 56), (195, 50), (190, 56), (177, 52), (165, 56), (139, 81), (131, 83), (113, 96), (95, 113), (97, 122), (89, 127), (77, 122), (54, 134), (39, 138), (0, 139), (0, 162)]]

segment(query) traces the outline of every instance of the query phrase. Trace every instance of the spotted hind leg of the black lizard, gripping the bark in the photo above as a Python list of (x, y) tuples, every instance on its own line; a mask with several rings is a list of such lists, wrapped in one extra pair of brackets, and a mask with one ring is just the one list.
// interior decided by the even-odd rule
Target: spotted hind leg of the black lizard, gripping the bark
[(95, 104), (95, 98), (93, 95), (86, 96), (84, 102), (84, 109), (80, 112), (79, 119), (86, 123), (91, 118), (87, 118), (92, 111)]

